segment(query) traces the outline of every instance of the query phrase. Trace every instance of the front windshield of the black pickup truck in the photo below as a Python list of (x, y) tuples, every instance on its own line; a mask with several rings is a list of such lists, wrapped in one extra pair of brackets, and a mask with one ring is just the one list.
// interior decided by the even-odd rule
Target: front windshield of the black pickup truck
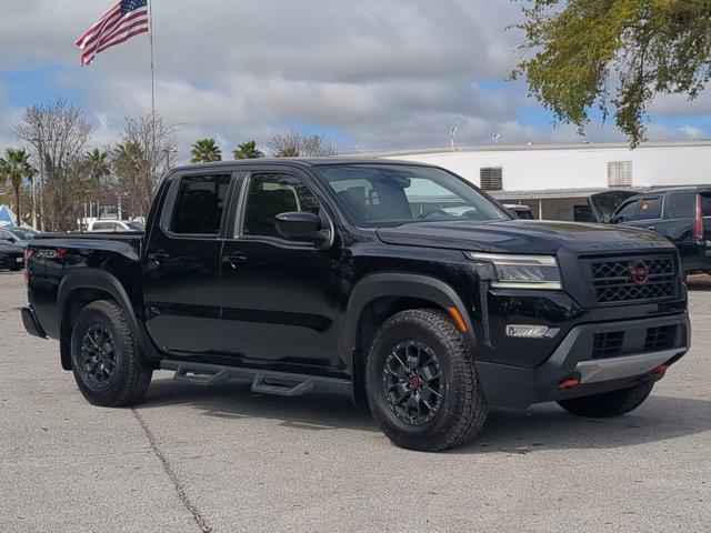
[(333, 164), (318, 171), (357, 225), (511, 220), (477, 188), (440, 169)]

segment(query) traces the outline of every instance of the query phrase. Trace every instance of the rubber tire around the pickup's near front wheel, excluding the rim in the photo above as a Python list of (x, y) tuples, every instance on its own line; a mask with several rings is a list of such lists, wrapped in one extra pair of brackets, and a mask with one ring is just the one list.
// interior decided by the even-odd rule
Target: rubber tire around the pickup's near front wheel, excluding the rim
[[(411, 425), (391, 410), (383, 386), (387, 358), (403, 341), (429, 346), (441, 363), (443, 395), (432, 420)], [(439, 310), (402, 311), (375, 332), (365, 366), (365, 393), (373, 419), (398, 446), (437, 452), (472, 439), (487, 420), (487, 404), (467, 343)]]

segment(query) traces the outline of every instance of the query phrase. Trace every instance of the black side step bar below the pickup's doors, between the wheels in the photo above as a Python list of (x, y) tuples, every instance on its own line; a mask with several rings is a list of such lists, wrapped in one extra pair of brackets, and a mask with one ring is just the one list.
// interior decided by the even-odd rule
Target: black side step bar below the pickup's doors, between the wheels
[(271, 370), (223, 366), (220, 364), (189, 363), (163, 360), (162, 370), (174, 371), (173, 381), (196, 385), (217, 385), (228, 381), (251, 381), (252, 392), (301, 396), (307, 392), (351, 392), (351, 382), (320, 375), (291, 374)]

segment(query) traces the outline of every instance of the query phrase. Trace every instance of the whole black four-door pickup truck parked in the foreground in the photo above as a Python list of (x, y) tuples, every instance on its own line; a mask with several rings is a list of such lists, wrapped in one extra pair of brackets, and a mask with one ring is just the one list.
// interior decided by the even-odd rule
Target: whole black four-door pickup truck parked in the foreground
[(688, 350), (679, 253), (647, 230), (512, 220), (435, 167), (260, 160), (167, 175), (146, 233), (29, 247), (26, 329), (87, 400), (157, 369), (284, 396), (348, 391), (397, 444), (437, 451), (489, 406), (639, 406)]

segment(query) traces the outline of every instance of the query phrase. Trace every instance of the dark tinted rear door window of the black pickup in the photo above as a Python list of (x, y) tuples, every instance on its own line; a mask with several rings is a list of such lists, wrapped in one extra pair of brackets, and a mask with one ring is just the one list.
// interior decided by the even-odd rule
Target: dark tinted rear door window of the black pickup
[(218, 235), (230, 181), (229, 174), (184, 177), (180, 182), (170, 231), (177, 234)]

